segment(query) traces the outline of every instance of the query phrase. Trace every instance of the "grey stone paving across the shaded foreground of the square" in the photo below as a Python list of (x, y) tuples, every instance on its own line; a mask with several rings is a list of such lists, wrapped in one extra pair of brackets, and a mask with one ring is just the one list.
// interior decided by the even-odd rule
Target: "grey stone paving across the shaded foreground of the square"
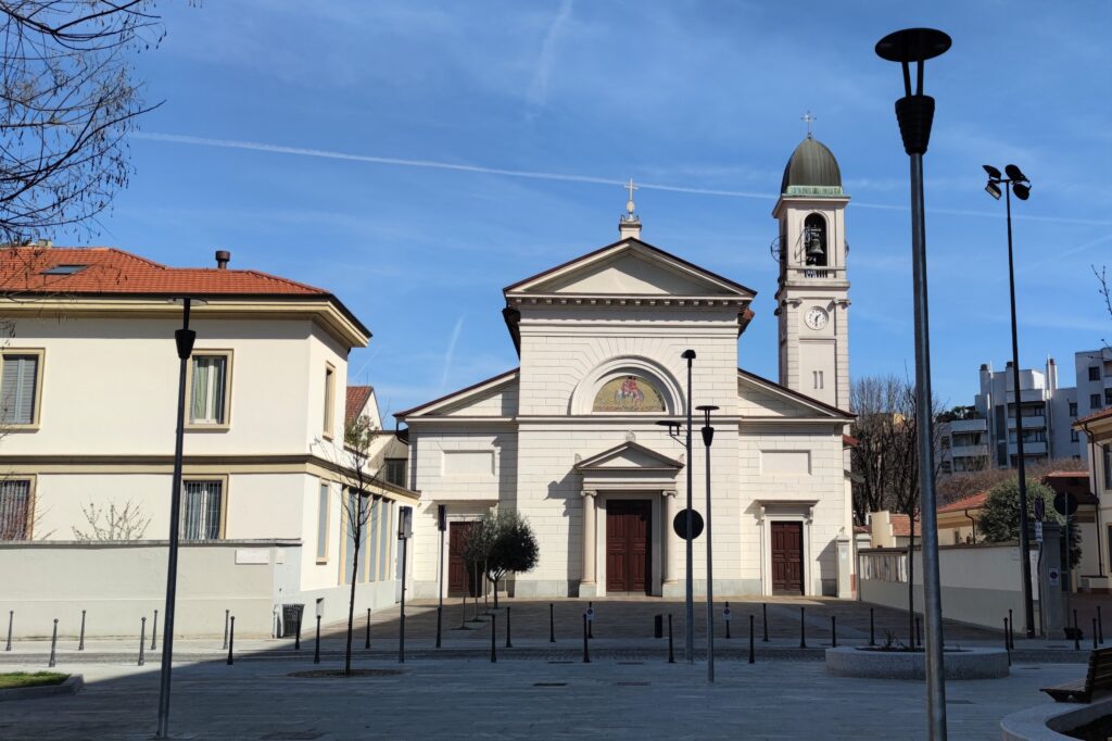
[[(386, 662), (358, 665), (398, 669)], [(920, 739), (926, 730), (922, 682), (836, 679), (820, 662), (719, 661), (713, 685), (705, 664), (683, 662), (423, 661), (395, 676), (288, 676), (304, 668), (285, 661), (177, 668), (173, 737)], [(156, 668), (81, 671), (87, 689), (78, 695), (4, 703), (0, 738), (150, 738)], [(1046, 702), (1039, 686), (1078, 671), (1016, 665), (1007, 679), (950, 682), (950, 738), (999, 739), (1003, 715)]]

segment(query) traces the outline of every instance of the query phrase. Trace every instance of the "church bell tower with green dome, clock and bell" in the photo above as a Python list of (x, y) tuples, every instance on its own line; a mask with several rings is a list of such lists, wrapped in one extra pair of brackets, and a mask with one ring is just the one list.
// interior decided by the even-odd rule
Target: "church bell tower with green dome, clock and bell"
[(780, 221), (772, 249), (780, 383), (841, 409), (850, 408), (848, 202), (837, 160), (808, 131), (784, 168), (772, 213)]

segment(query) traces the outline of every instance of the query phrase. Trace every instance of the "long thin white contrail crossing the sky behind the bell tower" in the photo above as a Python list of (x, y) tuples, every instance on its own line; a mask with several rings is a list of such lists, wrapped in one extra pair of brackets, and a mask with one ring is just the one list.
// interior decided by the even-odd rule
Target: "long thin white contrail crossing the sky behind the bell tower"
[[(167, 144), (189, 145), (195, 147), (216, 147), (220, 149), (240, 149), (246, 151), (262, 151), (276, 155), (294, 155), (298, 157), (318, 157), (321, 159), (339, 159), (351, 162), (367, 162), (371, 165), (395, 165), (399, 167), (421, 167), (436, 170), (455, 170), (458, 172), (477, 172), (481, 175), (502, 175), (513, 178), (528, 178), (533, 180), (556, 180), (562, 182), (586, 182), (590, 185), (624, 186), (623, 180), (600, 178), (592, 175), (569, 175), (565, 172), (545, 172), (542, 170), (514, 170), (502, 167), (486, 167), (483, 165), (465, 165), (458, 162), (445, 162), (435, 159), (407, 159), (401, 157), (379, 157), (376, 155), (356, 155), (332, 149), (316, 149), (311, 147), (288, 147), (285, 145), (267, 144), (265, 141), (245, 141), (240, 139), (214, 139), (209, 137), (195, 137), (185, 134), (161, 134), (156, 131), (136, 131), (130, 135), (135, 139), (146, 139), (148, 141), (163, 141)], [(765, 192), (753, 192), (749, 190), (724, 190), (718, 188), (695, 188), (687, 186), (673, 186), (661, 182), (638, 182), (638, 188), (646, 190), (665, 190), (668, 192), (685, 192), (697, 196), (722, 196), (725, 198), (753, 198), (756, 200), (774, 201), (775, 196)], [(854, 201), (858, 208), (876, 208), (882, 210), (906, 211), (907, 206), (894, 204), (870, 204)], [(932, 214), (943, 214), (947, 216), (975, 216), (982, 218), (1003, 218), (994, 211), (974, 211), (949, 208), (927, 209)], [(1082, 224), (1093, 226), (1112, 226), (1112, 221), (1099, 219), (1075, 219), (1060, 216), (1032, 216), (1016, 214), (1012, 218), (1030, 221), (1053, 221), (1059, 224)]]

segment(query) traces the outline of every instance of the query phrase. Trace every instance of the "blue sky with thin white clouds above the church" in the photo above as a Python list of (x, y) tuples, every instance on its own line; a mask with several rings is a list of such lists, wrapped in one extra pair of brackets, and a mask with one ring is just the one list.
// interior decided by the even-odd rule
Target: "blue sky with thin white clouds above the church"
[(926, 69), (936, 393), (971, 403), (979, 364), (1010, 357), (1004, 208), (982, 162), (1033, 182), (1014, 209), (1021, 363), (1054, 356), (1072, 385), (1073, 352), (1112, 339), (1090, 270), (1112, 267), (1108, 2), (162, 10), (168, 36), (137, 63), (166, 102), (95, 241), (179, 266), (230, 249), (232, 267), (335, 292), (375, 333), (350, 382), (389, 411), (516, 365), (502, 287), (613, 241), (629, 176), (647, 241), (758, 292), (739, 360), (775, 378), (771, 210), (806, 110), (853, 197), (851, 373), (911, 376), (902, 82), (873, 52), (909, 26), (954, 39)]

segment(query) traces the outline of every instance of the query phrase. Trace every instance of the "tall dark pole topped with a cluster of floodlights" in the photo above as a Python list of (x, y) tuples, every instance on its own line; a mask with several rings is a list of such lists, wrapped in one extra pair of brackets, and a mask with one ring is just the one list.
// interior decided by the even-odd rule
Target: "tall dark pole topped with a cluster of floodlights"
[[(1015, 165), (1004, 168), (1007, 177), (1003, 177), (992, 165), (983, 165), (984, 171), (989, 174), (989, 184), (985, 191), (1000, 200), (1000, 192), (1004, 192), (1004, 202), (1007, 204), (1007, 287), (1011, 292), (1012, 307), (1012, 388), (1015, 394), (1015, 462), (1016, 474), (1020, 482), (1020, 574), (1023, 581), (1023, 629), (1027, 638), (1035, 636), (1035, 607), (1031, 599), (1031, 539), (1027, 536), (1027, 472), (1023, 460), (1023, 417), (1020, 415), (1020, 402), (1022, 392), (1020, 391), (1020, 338), (1015, 328), (1015, 269), (1012, 259), (1012, 191), (1020, 200), (1026, 200), (1031, 196), (1031, 181), (1027, 180), (1023, 171)], [(1000, 186), (1004, 186), (1001, 188)], [(1009, 187), (1011, 186), (1011, 187)], [(1005, 399), (1006, 401), (1006, 399)]]

